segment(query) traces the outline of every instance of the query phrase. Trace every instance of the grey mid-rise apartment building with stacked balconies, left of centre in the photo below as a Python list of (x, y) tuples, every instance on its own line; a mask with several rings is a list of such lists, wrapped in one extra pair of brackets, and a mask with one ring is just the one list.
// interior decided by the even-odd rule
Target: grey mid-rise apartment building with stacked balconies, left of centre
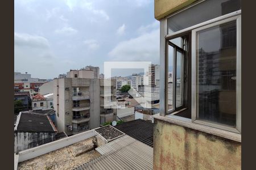
[(53, 80), (58, 130), (72, 135), (115, 120), (116, 109), (112, 103), (116, 100), (115, 80), (111, 80), (106, 88), (109, 91), (104, 93), (104, 79), (73, 77)]

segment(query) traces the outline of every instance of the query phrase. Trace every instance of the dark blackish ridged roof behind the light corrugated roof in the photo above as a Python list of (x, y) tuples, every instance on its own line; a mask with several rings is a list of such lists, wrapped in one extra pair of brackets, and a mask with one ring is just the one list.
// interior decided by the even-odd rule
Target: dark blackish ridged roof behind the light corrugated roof
[(151, 121), (137, 119), (129, 122), (123, 122), (115, 126), (118, 130), (130, 137), (153, 147), (154, 124)]

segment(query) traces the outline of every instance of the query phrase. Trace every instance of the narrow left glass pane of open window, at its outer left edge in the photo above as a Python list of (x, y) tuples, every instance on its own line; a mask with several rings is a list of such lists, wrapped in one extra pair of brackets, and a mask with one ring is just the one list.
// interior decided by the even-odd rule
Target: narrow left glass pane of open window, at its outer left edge
[(172, 102), (173, 94), (173, 82), (172, 82), (172, 73), (174, 70), (174, 48), (171, 45), (168, 45), (168, 111), (174, 109), (174, 104)]

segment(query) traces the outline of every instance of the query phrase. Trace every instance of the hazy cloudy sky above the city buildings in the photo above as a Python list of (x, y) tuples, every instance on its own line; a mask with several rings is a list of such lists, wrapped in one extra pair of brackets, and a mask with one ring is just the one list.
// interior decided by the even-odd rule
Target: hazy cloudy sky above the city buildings
[(50, 79), (87, 65), (103, 73), (105, 61), (159, 64), (154, 1), (14, 1), (14, 71)]

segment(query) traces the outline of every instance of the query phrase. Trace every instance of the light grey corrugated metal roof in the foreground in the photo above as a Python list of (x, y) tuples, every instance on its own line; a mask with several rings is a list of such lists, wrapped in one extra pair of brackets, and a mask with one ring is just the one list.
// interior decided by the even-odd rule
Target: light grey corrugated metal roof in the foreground
[(124, 135), (98, 148), (102, 155), (76, 169), (153, 169), (153, 148)]

